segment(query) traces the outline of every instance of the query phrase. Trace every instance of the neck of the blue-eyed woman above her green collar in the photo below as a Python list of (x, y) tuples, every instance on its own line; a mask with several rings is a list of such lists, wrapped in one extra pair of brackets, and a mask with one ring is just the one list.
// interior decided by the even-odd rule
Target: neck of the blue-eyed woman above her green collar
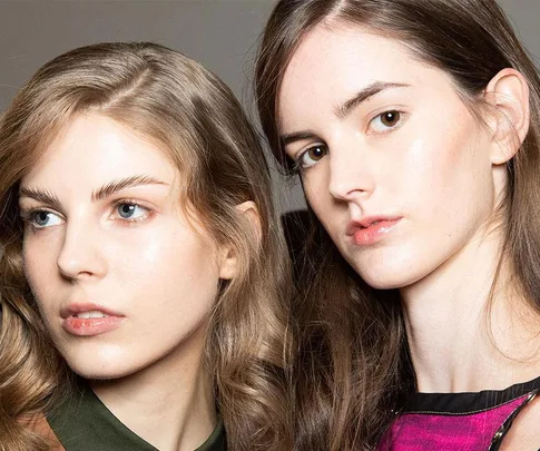
[(161, 451), (193, 451), (216, 427), (213, 383), (204, 370), (202, 346), (176, 350), (134, 375), (90, 385), (126, 427)]

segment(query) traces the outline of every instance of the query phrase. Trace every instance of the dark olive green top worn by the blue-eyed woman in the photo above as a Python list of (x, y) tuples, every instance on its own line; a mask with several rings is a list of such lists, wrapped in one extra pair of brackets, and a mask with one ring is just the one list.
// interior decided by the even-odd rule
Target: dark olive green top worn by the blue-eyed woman
[[(47, 421), (66, 451), (159, 451), (118, 420), (90, 388), (46, 413)], [(225, 429), (219, 420), (210, 437), (195, 451), (226, 451)]]

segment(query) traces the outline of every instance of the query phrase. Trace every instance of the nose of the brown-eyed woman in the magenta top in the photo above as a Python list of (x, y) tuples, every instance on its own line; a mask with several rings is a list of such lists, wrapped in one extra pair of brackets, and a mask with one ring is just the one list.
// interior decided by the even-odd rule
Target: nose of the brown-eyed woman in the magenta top
[(375, 188), (372, 164), (362, 144), (351, 140), (340, 143), (330, 150), (331, 195), (338, 200), (352, 200), (355, 197), (369, 197)]

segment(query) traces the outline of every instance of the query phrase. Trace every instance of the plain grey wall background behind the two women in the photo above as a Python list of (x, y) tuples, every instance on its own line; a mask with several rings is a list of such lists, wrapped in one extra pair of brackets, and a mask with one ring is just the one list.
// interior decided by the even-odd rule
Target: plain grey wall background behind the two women
[[(220, 76), (255, 117), (251, 70), (274, 0), (0, 0), (0, 111), (46, 61), (75, 47), (150, 40), (180, 50)], [(540, 66), (540, 0), (500, 0)], [(297, 187), (276, 170), (282, 210), (302, 207)]]

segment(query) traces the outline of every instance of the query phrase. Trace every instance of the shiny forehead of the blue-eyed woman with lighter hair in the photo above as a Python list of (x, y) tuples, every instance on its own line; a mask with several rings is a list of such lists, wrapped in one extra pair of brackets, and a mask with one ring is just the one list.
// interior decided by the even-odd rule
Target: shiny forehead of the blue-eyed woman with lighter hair
[(84, 114), (60, 129), (21, 184), (67, 189), (139, 174), (168, 182), (175, 168), (153, 140), (105, 116)]

